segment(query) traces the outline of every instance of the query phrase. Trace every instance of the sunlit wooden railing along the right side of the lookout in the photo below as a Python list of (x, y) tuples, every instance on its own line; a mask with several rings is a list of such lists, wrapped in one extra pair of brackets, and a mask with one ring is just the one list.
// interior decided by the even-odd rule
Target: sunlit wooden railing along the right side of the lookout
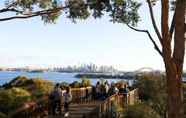
[[(133, 105), (138, 101), (138, 89), (130, 91), (128, 94), (114, 94), (102, 101), (86, 118), (119, 118), (121, 112), (127, 109), (128, 105)], [(117, 108), (116, 108), (117, 107)]]

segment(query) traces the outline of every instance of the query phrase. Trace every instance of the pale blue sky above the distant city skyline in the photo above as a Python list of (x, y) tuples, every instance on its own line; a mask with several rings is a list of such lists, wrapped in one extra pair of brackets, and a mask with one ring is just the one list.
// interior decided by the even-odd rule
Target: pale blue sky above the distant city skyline
[[(160, 24), (158, 5), (154, 12)], [(145, 2), (139, 14), (138, 28), (148, 29), (158, 42)], [(113, 24), (108, 16), (96, 20), (90, 17), (74, 24), (62, 15), (56, 24), (47, 25), (36, 17), (0, 22), (0, 27), (0, 67), (94, 63), (119, 70), (142, 67), (164, 70), (163, 60), (146, 34), (135, 32), (124, 24)]]

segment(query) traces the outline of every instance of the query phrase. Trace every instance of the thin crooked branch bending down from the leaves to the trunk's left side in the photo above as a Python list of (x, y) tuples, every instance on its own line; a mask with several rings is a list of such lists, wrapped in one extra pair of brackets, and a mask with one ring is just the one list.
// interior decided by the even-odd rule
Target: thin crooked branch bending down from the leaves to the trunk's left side
[(137, 28), (134, 28), (134, 27), (130, 26), (129, 24), (127, 24), (127, 26), (128, 26), (130, 29), (135, 30), (135, 31), (137, 31), (137, 32), (144, 32), (144, 33), (147, 33), (147, 35), (149, 36), (149, 39), (151, 40), (151, 42), (152, 42), (153, 45), (154, 45), (155, 50), (163, 57), (162, 51), (159, 49), (158, 45), (156, 44), (155, 40), (152, 38), (152, 36), (151, 36), (151, 34), (149, 33), (148, 30), (137, 29)]

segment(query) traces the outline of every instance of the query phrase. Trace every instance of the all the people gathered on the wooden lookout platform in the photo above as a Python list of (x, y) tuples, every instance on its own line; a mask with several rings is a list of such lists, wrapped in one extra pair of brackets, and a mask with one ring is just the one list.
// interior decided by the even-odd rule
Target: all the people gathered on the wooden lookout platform
[[(95, 86), (92, 86), (91, 93), (89, 93), (88, 89), (86, 89), (85, 99), (91, 96), (91, 98), (95, 100), (105, 100), (107, 97), (114, 94), (127, 94), (128, 92), (129, 89), (126, 83), (122, 83), (118, 87), (114, 82), (109, 84), (108, 81), (105, 81), (104, 83), (98, 81)], [(50, 93), (49, 100), (49, 106), (52, 115), (62, 114), (61, 106), (64, 106), (64, 116), (67, 117), (69, 115), (69, 104), (72, 101), (70, 87), (66, 87), (66, 89), (63, 90), (60, 84), (56, 84), (54, 90)]]

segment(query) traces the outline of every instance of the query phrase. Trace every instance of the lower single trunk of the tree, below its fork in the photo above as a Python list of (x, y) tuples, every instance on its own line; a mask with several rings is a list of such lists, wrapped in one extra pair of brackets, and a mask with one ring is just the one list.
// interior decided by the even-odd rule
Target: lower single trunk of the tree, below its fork
[(166, 68), (168, 118), (183, 118), (182, 79), (173, 71), (172, 68)]

